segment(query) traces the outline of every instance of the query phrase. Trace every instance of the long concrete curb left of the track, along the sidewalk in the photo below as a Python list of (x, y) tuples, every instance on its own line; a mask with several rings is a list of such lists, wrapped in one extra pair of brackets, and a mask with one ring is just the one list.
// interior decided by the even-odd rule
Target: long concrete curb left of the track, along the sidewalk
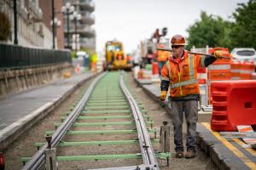
[(14, 122), (9, 127), (4, 128), (0, 131), (0, 150), (5, 150), (8, 148), (9, 144), (12, 144), (16, 139), (18, 139), (22, 134), (31, 128), (34, 124), (47, 116), (51, 111), (54, 111), (55, 108), (65, 99), (68, 98), (77, 88), (83, 85), (84, 82), (89, 81), (91, 78), (96, 77), (98, 73), (93, 73), (89, 77), (85, 77), (84, 80), (78, 82), (73, 88), (69, 89), (64, 95), (60, 98), (55, 99), (54, 101), (48, 102), (47, 104), (41, 106), (36, 111), (32, 111), (29, 115), (21, 118), (18, 122)]

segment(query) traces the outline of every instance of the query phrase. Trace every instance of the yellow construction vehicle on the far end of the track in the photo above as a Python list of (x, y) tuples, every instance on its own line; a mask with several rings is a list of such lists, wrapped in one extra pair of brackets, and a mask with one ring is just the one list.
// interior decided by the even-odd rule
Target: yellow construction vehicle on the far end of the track
[(105, 58), (104, 70), (125, 69), (131, 71), (131, 62), (126, 58), (122, 42), (115, 40), (106, 42)]

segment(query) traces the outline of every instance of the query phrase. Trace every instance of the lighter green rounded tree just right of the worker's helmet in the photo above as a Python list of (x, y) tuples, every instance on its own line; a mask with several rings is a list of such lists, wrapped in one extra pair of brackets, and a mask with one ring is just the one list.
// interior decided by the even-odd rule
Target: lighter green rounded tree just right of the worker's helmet
[(225, 21), (219, 16), (207, 15), (202, 11), (201, 20), (196, 21), (187, 29), (189, 32), (188, 48), (193, 46), (204, 48), (207, 45), (230, 48), (230, 26), (229, 21)]

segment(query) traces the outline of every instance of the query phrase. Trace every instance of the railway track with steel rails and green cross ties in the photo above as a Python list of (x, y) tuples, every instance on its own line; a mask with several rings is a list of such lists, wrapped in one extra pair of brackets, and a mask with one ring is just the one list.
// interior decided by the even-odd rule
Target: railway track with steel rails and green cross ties
[(46, 132), (48, 144), (37, 143), (34, 156), (21, 157), (26, 163), (23, 169), (40, 169), (44, 151), (51, 147), (57, 150), (60, 169), (78, 165), (86, 169), (160, 169), (157, 157), (166, 158), (169, 164), (169, 152), (154, 151), (153, 144), (160, 140), (153, 121), (128, 90), (124, 75), (105, 72), (96, 77), (71, 111), (55, 123), (56, 130)]

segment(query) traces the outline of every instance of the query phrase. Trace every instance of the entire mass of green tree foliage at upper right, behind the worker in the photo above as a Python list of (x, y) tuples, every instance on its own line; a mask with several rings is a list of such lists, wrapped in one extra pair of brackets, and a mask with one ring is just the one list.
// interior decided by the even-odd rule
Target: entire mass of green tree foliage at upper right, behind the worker
[(187, 31), (189, 47), (205, 48), (256, 48), (256, 0), (239, 3), (233, 14), (235, 22), (223, 20), (219, 16), (201, 12), (198, 20)]

